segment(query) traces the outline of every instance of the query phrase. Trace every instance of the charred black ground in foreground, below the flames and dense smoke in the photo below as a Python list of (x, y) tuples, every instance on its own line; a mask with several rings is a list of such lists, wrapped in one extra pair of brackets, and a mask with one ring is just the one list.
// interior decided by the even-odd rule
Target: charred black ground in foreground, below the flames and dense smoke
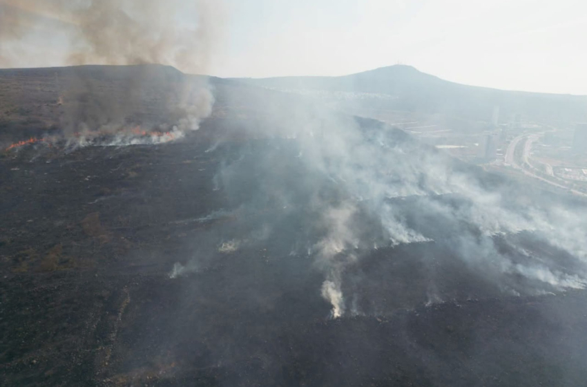
[[(428, 239), (359, 247), (341, 274), (347, 312), (333, 319), (306, 252), (320, 236), (296, 188), (311, 173), (298, 149), (215, 144), (3, 154), (2, 386), (584, 384), (584, 291), (532, 295), (514, 273), (490, 281), (456, 256), (456, 225), (413, 216), (418, 197), (395, 205)], [(255, 161), (266, 155), (279, 157)], [(271, 173), (289, 176), (286, 206), (258, 197)], [(340, 200), (335, 185), (319, 191)], [(514, 256), (500, 238), (572, 267), (532, 233), (492, 237)]]

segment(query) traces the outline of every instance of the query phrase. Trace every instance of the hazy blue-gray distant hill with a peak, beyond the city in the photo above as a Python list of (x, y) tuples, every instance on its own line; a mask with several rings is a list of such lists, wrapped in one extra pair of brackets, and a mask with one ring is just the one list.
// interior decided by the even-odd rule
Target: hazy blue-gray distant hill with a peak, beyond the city
[[(240, 78), (241, 82), (282, 91), (374, 93), (394, 98), (370, 108), (446, 114), (468, 120), (489, 120), (494, 106), (502, 116), (530, 120), (587, 120), (587, 96), (504, 91), (468, 86), (422, 73), (412, 66), (394, 65), (338, 77)], [(364, 106), (363, 103), (362, 108)]]

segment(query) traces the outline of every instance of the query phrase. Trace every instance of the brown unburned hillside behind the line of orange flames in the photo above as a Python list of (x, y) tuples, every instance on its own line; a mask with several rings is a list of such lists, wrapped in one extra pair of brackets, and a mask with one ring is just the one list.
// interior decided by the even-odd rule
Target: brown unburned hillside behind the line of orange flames
[[(209, 120), (251, 129), (279, 124), (300, 98), (242, 82), (186, 75), (170, 66), (73, 66), (0, 70), (0, 145), (104, 126), (144, 129), (180, 122), (209, 93)], [(205, 96), (205, 95), (204, 95)], [(206, 110), (206, 108), (203, 108)], [(218, 127), (218, 125), (216, 125)], [(226, 127), (223, 125), (222, 127)]]

